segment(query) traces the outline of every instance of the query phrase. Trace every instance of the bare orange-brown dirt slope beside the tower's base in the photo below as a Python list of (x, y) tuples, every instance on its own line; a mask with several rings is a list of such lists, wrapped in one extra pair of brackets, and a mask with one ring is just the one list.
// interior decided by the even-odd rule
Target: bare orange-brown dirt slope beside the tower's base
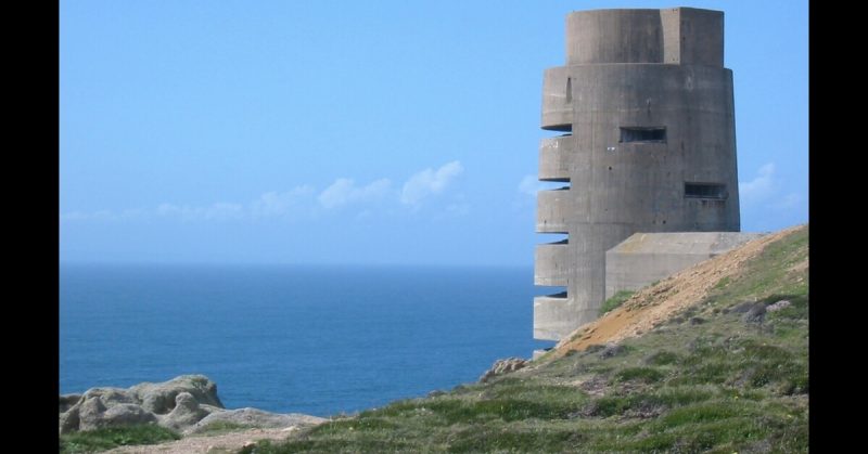
[[(739, 276), (744, 272), (743, 264), (757, 257), (768, 244), (802, 228), (799, 225), (753, 239), (637, 291), (620, 308), (566, 336), (556, 346), (554, 356), (561, 356), (570, 350), (585, 350), (591, 345), (617, 342), (648, 332), (675, 313), (702, 301), (720, 280)], [(807, 260), (800, 265), (807, 267)]]

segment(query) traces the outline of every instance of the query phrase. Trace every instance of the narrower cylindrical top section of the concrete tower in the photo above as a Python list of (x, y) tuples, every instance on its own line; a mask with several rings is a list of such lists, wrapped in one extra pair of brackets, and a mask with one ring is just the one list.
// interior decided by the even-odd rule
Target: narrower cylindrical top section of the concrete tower
[(566, 64), (724, 66), (724, 13), (694, 8), (591, 10), (566, 16)]

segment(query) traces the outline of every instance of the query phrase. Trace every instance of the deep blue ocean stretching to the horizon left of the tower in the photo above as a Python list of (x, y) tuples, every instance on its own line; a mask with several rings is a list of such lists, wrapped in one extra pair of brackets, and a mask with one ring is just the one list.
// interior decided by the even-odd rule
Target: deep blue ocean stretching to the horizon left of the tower
[(329, 416), (529, 358), (532, 267), (60, 265), (60, 387), (204, 374), (229, 408)]

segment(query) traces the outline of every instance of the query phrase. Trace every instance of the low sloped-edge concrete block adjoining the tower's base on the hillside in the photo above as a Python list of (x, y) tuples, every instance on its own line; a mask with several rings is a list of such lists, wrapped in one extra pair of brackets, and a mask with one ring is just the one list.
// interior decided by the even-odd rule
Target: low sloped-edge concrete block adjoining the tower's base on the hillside
[(605, 298), (638, 290), (763, 236), (762, 233), (635, 233), (605, 251)]

